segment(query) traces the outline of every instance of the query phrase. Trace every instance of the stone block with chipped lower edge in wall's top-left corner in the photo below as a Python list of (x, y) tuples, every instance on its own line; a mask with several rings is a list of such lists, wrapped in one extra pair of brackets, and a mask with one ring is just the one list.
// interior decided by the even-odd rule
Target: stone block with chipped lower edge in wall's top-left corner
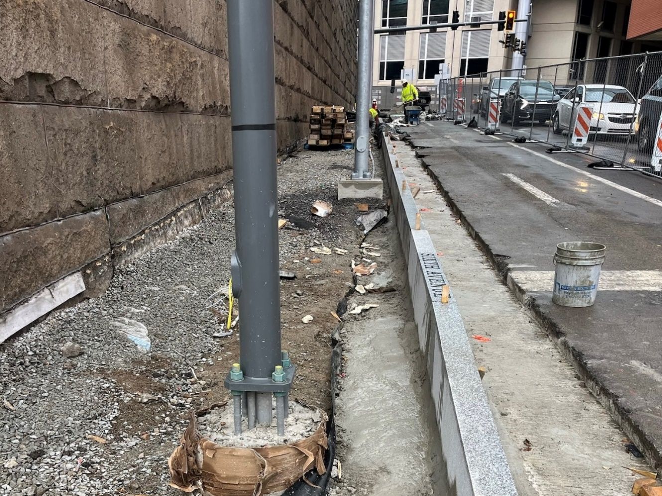
[(0, 12), (0, 99), (105, 104), (99, 7), (0, 0)]

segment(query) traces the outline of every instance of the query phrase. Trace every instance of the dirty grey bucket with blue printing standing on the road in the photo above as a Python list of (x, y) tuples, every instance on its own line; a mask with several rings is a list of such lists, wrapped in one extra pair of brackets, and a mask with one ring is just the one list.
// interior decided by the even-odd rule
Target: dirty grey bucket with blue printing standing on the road
[(600, 243), (559, 243), (554, 255), (556, 271), (551, 301), (563, 307), (593, 306), (598, 294), (605, 250), (606, 247)]

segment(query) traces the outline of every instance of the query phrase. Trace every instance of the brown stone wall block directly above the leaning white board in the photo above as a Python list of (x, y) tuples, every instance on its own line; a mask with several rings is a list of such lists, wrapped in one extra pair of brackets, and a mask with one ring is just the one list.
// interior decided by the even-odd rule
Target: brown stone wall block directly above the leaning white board
[(103, 212), (0, 237), (0, 313), (108, 253)]

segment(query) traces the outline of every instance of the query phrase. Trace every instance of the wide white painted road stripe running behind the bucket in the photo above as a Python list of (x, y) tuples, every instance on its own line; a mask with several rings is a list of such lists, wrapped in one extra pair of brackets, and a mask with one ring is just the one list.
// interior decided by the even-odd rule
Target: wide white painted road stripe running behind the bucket
[[(513, 270), (510, 277), (527, 291), (554, 288), (553, 270)], [(662, 270), (602, 270), (598, 290), (662, 291)]]

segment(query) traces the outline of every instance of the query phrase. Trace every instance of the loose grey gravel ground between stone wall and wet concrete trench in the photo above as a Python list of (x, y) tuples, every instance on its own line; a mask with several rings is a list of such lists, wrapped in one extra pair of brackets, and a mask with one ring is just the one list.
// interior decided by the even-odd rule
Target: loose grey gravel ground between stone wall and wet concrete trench
[[(280, 217), (299, 226), (280, 231), (281, 269), (297, 272), (281, 282), (283, 348), (299, 367), (291, 397), (326, 410), (331, 313), (352, 286), (350, 261), (361, 243), (354, 205), (336, 200), (353, 157), (300, 151), (279, 169)], [(334, 204), (333, 214), (311, 216), (314, 200)], [(0, 345), (1, 495), (181, 494), (167, 487), (167, 457), (191, 409), (227, 401), (222, 380), (238, 359), (237, 332), (214, 338), (220, 319), (205, 308), (228, 282), (233, 222), (226, 204), (118, 267), (103, 296)], [(349, 253), (316, 255), (316, 242)], [(313, 321), (302, 323), (305, 315)], [(127, 339), (113, 324), (119, 319), (144, 325), (151, 349)], [(81, 354), (63, 356), (68, 342)]]

